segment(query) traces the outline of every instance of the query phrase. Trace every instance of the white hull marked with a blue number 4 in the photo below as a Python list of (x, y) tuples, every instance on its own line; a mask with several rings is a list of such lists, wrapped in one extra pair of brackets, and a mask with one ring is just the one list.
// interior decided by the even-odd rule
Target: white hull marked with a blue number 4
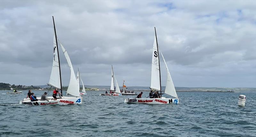
[(28, 105), (52, 105), (52, 104), (82, 104), (83, 97), (61, 97), (57, 98), (57, 100), (53, 100), (53, 97), (47, 97), (48, 101), (41, 101), (41, 97), (38, 97), (38, 101), (31, 102), (29, 98), (25, 98), (20, 101), (20, 104), (28, 104)]

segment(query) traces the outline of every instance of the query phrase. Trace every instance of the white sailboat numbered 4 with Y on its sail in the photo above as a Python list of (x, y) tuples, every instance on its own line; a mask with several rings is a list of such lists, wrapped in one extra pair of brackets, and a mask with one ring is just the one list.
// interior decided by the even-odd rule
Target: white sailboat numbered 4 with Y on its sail
[[(49, 80), (49, 83), (47, 83), (47, 85), (51, 86), (51, 88), (53, 87), (53, 88), (59, 89), (62, 94), (60, 57), (59, 57), (59, 49), (58, 49), (58, 42), (57, 42), (58, 40), (57, 40), (53, 16), (52, 16), (52, 19), (53, 19), (54, 34), (55, 34), (53, 38), (53, 62), (52, 62), (52, 72), (51, 72), (50, 80)], [(68, 56), (68, 52), (66, 51), (66, 49), (63, 47), (61, 43), (60, 43), (60, 47), (65, 55), (68, 66), (70, 68), (70, 80), (69, 80), (69, 85), (66, 93), (72, 96), (61, 95), (60, 97), (57, 98), (57, 100), (53, 100), (53, 97), (47, 97), (47, 100), (45, 101), (42, 101), (41, 97), (37, 97), (38, 101), (34, 101), (34, 102), (31, 102), (29, 98), (24, 98), (22, 101), (20, 101), (20, 104), (29, 104), (29, 105), (82, 104), (83, 97), (80, 96), (79, 85), (76, 82), (75, 72), (71, 64), (70, 58)]]

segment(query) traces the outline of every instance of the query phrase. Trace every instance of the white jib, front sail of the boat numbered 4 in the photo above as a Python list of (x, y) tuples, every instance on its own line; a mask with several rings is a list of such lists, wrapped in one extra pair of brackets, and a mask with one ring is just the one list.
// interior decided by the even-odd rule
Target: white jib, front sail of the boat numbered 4
[[(59, 43), (60, 43), (60, 41), (59, 41)], [(68, 56), (68, 52), (66, 51), (66, 49), (64, 49), (64, 47), (62, 46), (61, 43), (60, 43), (60, 47), (66, 57), (68, 66), (70, 68), (70, 80), (69, 80), (69, 85), (68, 85), (68, 89), (67, 89), (67, 94), (80, 97), (79, 84), (77, 84), (75, 72), (74, 72), (73, 66), (71, 64), (70, 58)]]

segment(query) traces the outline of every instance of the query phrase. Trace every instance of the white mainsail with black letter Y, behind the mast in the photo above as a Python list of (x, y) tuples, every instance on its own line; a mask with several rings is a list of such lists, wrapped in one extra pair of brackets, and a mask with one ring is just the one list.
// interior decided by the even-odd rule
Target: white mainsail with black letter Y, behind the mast
[(61, 89), (60, 87), (60, 69), (59, 69), (59, 57), (57, 52), (57, 43), (55, 35), (53, 36), (53, 62), (52, 62), (52, 72), (50, 76), (48, 85)]

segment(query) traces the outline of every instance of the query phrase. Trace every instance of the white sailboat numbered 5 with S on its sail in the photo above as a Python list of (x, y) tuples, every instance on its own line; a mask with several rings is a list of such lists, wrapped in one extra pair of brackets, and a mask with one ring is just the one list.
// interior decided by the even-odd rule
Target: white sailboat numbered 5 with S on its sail
[(160, 98), (127, 98), (124, 100), (124, 103), (146, 103), (146, 104), (169, 104), (169, 103), (179, 103), (179, 98), (174, 88), (171, 74), (167, 67), (167, 64), (164, 60), (164, 56), (160, 51), (164, 64), (167, 71), (167, 80), (166, 80), (166, 88), (165, 94), (171, 95), (173, 98), (165, 98), (162, 97), (162, 89), (161, 89), (161, 72), (160, 72), (160, 61), (159, 61), (159, 46), (157, 43), (156, 37), (156, 27), (155, 27), (155, 40), (153, 44), (153, 54), (152, 54), (152, 65), (151, 65), (151, 86), (150, 89), (153, 91), (160, 91)]

